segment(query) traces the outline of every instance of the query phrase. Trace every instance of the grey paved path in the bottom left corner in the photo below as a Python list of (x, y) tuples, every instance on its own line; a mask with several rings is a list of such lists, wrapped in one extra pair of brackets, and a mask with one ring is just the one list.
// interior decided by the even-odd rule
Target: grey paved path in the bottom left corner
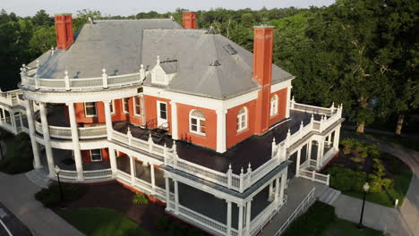
[(9, 208), (34, 236), (83, 235), (53, 211), (45, 208), (35, 198), (39, 187), (30, 182), (24, 173), (0, 173), (0, 202)]

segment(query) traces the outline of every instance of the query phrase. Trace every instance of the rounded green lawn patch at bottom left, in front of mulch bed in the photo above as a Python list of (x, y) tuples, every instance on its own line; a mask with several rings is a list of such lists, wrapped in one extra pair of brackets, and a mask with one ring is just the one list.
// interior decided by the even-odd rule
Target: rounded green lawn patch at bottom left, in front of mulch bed
[(138, 223), (107, 208), (65, 209), (57, 214), (87, 236), (150, 236)]

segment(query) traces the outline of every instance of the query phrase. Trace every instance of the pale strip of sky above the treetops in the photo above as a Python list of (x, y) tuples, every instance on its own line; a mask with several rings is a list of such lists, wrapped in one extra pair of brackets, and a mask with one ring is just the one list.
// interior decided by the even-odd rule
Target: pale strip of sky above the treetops
[(263, 6), (283, 8), (295, 6), (307, 8), (311, 5), (322, 6), (333, 4), (335, 0), (0, 0), (0, 9), (7, 13), (21, 16), (32, 16), (44, 9), (49, 14), (77, 13), (81, 9), (98, 10), (102, 15), (132, 15), (141, 12), (173, 12), (176, 8), (190, 11), (209, 10), (211, 8), (259, 10)]

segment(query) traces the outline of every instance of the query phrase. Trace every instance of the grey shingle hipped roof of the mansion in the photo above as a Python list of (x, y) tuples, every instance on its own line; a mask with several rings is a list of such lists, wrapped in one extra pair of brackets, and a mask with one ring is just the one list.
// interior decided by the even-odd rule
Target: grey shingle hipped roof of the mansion
[[(42, 60), (38, 76), (64, 78), (68, 71), (70, 78), (100, 77), (103, 68), (110, 76), (128, 74), (138, 72), (141, 63), (151, 70), (159, 55), (162, 69), (176, 72), (166, 89), (218, 99), (259, 89), (252, 79), (252, 53), (207, 31), (182, 29), (169, 19), (96, 21), (83, 26), (68, 50)], [(291, 78), (272, 65), (273, 84)], [(144, 84), (153, 86), (150, 76)]]

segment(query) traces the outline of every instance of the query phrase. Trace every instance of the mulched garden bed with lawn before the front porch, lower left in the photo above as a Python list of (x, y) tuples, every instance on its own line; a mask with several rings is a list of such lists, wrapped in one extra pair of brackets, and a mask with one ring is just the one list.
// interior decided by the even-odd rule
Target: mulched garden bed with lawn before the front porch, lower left
[[(206, 235), (201, 230), (167, 215), (162, 203), (144, 194), (135, 194), (116, 182), (63, 186), (66, 188), (64, 203), (47, 206), (88, 236)], [(59, 200), (59, 189), (56, 185), (43, 191), (37, 196), (53, 196), (47, 198), (53, 202)], [(39, 196), (37, 198), (40, 199)]]

